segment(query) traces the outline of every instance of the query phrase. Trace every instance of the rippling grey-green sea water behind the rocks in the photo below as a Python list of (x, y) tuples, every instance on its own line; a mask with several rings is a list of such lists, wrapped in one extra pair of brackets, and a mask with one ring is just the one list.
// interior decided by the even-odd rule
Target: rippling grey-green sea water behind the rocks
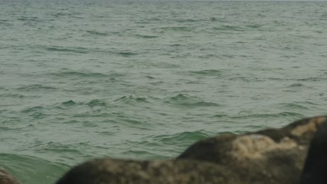
[(324, 1), (0, 1), (0, 166), (174, 158), (327, 109)]

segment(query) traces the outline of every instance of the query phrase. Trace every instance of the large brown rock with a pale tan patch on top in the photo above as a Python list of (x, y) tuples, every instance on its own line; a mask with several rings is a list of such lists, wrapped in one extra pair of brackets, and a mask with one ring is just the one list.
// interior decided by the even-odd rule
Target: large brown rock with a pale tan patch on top
[(326, 117), (319, 116), (280, 129), (212, 137), (190, 146), (177, 159), (224, 165), (245, 183), (298, 184), (307, 148), (324, 121)]

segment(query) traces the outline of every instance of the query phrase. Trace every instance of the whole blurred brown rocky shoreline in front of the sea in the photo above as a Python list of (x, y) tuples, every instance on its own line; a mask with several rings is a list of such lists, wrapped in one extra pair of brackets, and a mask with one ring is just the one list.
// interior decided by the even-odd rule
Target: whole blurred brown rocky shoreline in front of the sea
[[(91, 160), (73, 167), (57, 184), (317, 184), (323, 175), (319, 173), (327, 171), (321, 150), (327, 146), (325, 140), (327, 116), (317, 116), (284, 128), (204, 139), (174, 160)], [(0, 184), (17, 183), (0, 170)]]

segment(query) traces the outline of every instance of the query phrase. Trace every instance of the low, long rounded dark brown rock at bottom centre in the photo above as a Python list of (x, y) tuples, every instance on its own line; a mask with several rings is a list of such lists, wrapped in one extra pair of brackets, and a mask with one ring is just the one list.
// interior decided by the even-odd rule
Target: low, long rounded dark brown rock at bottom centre
[(226, 167), (196, 160), (132, 161), (99, 159), (85, 162), (57, 184), (187, 184), (240, 183)]

